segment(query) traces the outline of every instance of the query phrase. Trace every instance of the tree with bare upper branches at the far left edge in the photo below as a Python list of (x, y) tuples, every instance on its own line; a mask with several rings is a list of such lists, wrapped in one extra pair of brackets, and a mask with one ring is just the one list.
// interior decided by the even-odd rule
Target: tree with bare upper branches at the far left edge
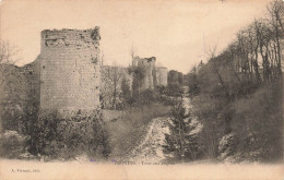
[(19, 50), (8, 41), (0, 41), (0, 121), (4, 130), (22, 131), (25, 101), (25, 77), (20, 68)]

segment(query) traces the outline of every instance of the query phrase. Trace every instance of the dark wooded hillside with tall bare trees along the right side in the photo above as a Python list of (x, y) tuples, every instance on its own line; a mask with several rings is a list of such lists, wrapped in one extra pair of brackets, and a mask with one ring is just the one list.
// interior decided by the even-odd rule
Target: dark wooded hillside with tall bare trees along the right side
[[(198, 142), (204, 157), (282, 157), (283, 47), (279, 41), (283, 40), (283, 24), (277, 16), (283, 8), (283, 2), (272, 2), (267, 20), (257, 20), (238, 32), (224, 51), (217, 56), (211, 51), (208, 63), (190, 72), (189, 93), (203, 124)], [(234, 139), (224, 145), (229, 134)]]

